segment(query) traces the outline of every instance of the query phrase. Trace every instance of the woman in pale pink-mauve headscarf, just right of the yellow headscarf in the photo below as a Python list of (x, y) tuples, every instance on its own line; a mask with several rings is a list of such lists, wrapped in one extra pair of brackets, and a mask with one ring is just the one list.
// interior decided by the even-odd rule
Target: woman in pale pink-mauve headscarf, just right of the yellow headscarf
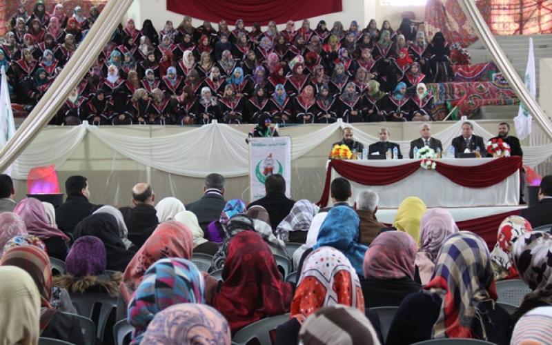
[(422, 285), (428, 284), (435, 269), (437, 255), (447, 237), (458, 232), (453, 215), (444, 208), (426, 210), (420, 221), (420, 251), (416, 269)]

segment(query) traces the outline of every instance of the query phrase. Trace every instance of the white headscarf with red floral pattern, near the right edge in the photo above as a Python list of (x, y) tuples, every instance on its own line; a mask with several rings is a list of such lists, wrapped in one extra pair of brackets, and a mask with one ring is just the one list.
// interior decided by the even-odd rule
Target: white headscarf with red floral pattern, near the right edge
[(517, 270), (511, 264), (510, 251), (518, 238), (532, 230), (529, 221), (520, 216), (506, 217), (500, 223), (495, 248), (491, 252), (496, 280), (517, 278)]

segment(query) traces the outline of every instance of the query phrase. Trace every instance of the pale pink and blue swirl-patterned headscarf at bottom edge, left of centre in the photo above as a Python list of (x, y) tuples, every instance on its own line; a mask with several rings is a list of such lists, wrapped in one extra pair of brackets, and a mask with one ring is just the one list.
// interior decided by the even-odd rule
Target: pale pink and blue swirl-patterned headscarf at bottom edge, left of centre
[(175, 304), (155, 315), (144, 333), (144, 344), (230, 345), (228, 322), (215, 308), (205, 304)]

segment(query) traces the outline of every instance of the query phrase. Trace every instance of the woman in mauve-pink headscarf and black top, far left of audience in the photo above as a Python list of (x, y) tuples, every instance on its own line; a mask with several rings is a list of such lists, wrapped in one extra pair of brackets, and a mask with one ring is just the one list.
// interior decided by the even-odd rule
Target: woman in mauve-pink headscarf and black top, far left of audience
[(14, 213), (19, 215), (30, 235), (35, 235), (46, 244), (47, 252), (50, 257), (55, 257), (65, 261), (69, 250), (69, 237), (57, 228), (50, 226), (44, 206), (38, 199), (32, 197), (19, 201), (15, 206)]

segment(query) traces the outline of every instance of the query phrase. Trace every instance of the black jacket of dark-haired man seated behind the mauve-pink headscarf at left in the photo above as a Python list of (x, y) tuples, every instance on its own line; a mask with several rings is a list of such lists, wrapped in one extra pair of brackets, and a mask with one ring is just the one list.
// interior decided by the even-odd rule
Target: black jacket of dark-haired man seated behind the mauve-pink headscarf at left
[(92, 215), (95, 204), (90, 204), (84, 195), (71, 195), (64, 204), (56, 209), (57, 227), (66, 233), (72, 233), (79, 221)]

